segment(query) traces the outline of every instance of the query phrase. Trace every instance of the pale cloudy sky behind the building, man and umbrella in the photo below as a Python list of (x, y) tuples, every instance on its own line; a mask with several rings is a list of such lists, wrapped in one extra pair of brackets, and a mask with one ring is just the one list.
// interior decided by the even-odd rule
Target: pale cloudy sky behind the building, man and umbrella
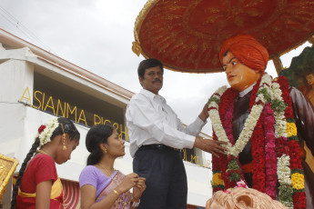
[[(134, 25), (146, 0), (0, 0), (0, 27), (134, 93), (141, 86), (132, 52)], [(309, 43), (281, 56), (289, 67)], [(277, 76), (272, 61), (266, 72)], [(208, 97), (228, 85), (225, 73), (188, 74), (165, 70), (163, 95), (182, 123), (190, 124)], [(210, 120), (203, 128), (212, 134)]]

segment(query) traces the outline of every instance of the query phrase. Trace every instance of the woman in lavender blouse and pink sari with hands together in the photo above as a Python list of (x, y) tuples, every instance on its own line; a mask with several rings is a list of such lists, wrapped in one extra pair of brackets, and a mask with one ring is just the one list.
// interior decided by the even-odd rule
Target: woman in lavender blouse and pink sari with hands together
[[(81, 208), (136, 208), (146, 189), (145, 178), (115, 170), (116, 157), (125, 155), (125, 141), (110, 125), (97, 124), (86, 134), (90, 152), (79, 177)], [(133, 187), (133, 197), (129, 190)]]

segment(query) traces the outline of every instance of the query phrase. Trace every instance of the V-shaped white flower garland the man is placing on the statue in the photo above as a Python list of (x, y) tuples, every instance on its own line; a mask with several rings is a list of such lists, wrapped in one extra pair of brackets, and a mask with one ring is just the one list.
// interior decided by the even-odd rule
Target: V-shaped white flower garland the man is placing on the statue
[[(271, 77), (265, 74), (261, 78), (259, 89), (266, 88), (267, 91), (270, 92), (269, 86), (271, 86)], [(221, 95), (223, 95), (226, 90), (227, 90), (227, 86), (220, 87), (218, 91), (216, 92), (217, 95), (214, 94), (213, 96), (216, 96), (218, 99), (220, 99)], [(215, 101), (208, 104), (208, 107), (210, 108), (210, 110), (208, 111), (208, 114), (213, 124), (213, 129), (215, 133), (217, 134), (218, 141), (228, 143), (224, 145), (228, 150), (226, 151), (227, 154), (231, 154), (237, 157), (238, 154), (242, 152), (246, 144), (248, 144), (248, 141), (252, 136), (254, 128), (256, 124), (258, 123), (259, 115), (263, 111), (263, 108), (264, 108), (263, 104), (267, 102), (266, 99), (264, 98), (264, 95), (262, 94), (258, 94), (255, 101), (256, 103), (260, 101), (262, 104), (254, 104), (252, 106), (251, 112), (248, 114), (248, 118), (246, 120), (246, 123), (244, 124), (243, 130), (241, 134), (238, 136), (238, 140), (234, 146), (230, 144), (226, 131), (221, 124), (221, 119), (218, 112), (218, 104)]]

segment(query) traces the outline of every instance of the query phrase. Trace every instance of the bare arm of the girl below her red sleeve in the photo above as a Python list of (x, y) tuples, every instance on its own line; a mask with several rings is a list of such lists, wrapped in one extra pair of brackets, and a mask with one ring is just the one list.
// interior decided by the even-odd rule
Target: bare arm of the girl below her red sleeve
[(35, 209), (50, 208), (51, 188), (52, 180), (48, 180), (36, 185)]

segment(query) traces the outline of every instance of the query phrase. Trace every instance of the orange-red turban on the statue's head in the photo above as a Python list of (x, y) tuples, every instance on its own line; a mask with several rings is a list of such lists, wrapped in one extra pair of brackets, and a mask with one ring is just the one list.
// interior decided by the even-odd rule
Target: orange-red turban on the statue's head
[(235, 55), (238, 61), (249, 68), (264, 72), (268, 64), (268, 51), (250, 35), (237, 35), (226, 40), (220, 48), (219, 60), (226, 52)]

